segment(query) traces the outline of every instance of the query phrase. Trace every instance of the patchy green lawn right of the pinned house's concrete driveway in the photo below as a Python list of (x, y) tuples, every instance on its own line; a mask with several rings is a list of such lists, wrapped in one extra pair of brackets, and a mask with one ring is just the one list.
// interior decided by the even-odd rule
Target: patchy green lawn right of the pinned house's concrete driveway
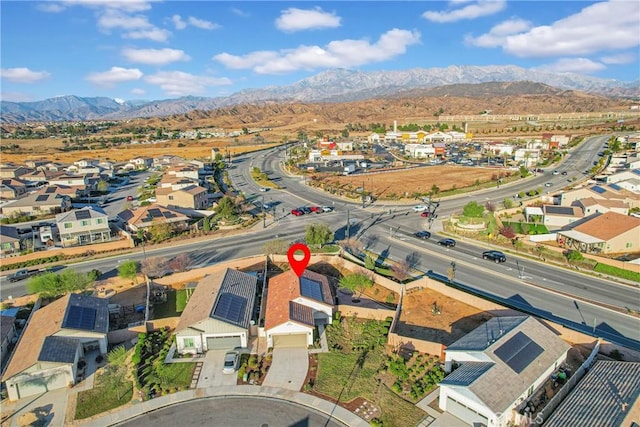
[(339, 398), (341, 402), (348, 402), (358, 396), (364, 397), (380, 407), (380, 419), (385, 426), (416, 425), (425, 413), (376, 379), (387, 356), (381, 349), (370, 351), (364, 360), (359, 360), (360, 354), (337, 351), (320, 354), (314, 389)]

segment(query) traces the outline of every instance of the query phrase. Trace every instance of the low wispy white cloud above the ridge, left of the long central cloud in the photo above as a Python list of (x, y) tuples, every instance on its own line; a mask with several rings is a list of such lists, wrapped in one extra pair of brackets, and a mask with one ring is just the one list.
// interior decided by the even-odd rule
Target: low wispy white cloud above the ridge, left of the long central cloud
[(160, 86), (169, 96), (200, 95), (205, 94), (208, 87), (232, 84), (226, 77), (196, 76), (182, 71), (160, 71), (144, 80)]

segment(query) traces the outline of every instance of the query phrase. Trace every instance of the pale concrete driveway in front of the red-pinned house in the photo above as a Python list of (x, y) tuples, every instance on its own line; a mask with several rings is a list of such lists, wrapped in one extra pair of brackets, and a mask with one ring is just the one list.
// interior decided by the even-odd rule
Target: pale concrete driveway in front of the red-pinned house
[(274, 348), (272, 355), (271, 367), (262, 385), (300, 391), (309, 370), (309, 351), (306, 348)]

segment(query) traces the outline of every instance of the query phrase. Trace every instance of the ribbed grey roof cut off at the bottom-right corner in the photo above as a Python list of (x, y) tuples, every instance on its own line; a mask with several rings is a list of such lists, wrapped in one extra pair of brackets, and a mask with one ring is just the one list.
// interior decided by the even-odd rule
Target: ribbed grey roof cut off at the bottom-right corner
[(597, 360), (544, 426), (637, 426), (638, 420), (640, 363)]

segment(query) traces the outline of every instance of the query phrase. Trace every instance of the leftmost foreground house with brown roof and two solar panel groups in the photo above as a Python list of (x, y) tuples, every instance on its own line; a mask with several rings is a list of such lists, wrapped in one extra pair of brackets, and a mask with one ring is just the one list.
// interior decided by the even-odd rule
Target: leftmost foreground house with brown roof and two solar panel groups
[(109, 300), (67, 294), (36, 310), (2, 377), (9, 400), (77, 382), (78, 362), (89, 351), (107, 353)]

